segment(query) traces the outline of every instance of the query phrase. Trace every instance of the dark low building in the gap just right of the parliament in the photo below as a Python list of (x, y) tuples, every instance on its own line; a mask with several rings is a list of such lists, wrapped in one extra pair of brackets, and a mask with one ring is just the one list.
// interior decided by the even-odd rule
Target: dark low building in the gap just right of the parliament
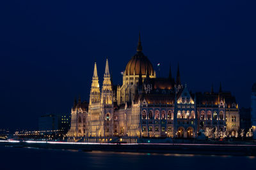
[(248, 132), (252, 127), (251, 125), (251, 108), (241, 108), (239, 110), (240, 115), (240, 129), (244, 129), (245, 132)]

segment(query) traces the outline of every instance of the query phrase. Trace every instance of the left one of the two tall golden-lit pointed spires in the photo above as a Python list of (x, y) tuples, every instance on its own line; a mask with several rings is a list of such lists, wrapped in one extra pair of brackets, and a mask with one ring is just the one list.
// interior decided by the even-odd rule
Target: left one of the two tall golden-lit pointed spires
[(90, 104), (97, 103), (99, 101), (100, 101), (100, 85), (99, 85), (99, 77), (97, 74), (97, 65), (95, 62), (93, 77), (92, 77), (92, 87), (90, 92)]

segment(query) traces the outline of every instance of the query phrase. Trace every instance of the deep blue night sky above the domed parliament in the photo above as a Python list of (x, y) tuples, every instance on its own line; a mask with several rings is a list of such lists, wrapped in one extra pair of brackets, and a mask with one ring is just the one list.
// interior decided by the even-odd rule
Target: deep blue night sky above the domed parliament
[[(154, 2), (154, 3), (153, 3)], [(7, 1), (0, 3), (0, 129), (37, 129), (46, 113), (70, 113), (88, 100), (97, 62), (106, 58), (114, 83), (136, 53), (157, 76), (180, 64), (193, 92), (218, 91), (250, 106), (256, 81), (255, 1)], [(160, 62), (160, 73), (157, 63)]]

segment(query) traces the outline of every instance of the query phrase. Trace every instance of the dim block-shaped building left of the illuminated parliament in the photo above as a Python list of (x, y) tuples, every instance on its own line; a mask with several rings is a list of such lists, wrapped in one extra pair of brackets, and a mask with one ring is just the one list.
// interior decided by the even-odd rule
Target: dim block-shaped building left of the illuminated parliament
[(62, 130), (67, 132), (70, 128), (70, 115), (43, 115), (38, 118), (39, 131)]

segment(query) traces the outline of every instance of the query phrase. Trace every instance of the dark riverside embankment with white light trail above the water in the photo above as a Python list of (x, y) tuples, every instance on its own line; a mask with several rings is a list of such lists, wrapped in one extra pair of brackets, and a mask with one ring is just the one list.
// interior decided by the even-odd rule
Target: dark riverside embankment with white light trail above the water
[(253, 155), (256, 145), (251, 144), (205, 144), (205, 143), (71, 143), (54, 141), (0, 141), (0, 145), (12, 147), (53, 148), (81, 150), (84, 152), (138, 152), (178, 153), (199, 155)]

